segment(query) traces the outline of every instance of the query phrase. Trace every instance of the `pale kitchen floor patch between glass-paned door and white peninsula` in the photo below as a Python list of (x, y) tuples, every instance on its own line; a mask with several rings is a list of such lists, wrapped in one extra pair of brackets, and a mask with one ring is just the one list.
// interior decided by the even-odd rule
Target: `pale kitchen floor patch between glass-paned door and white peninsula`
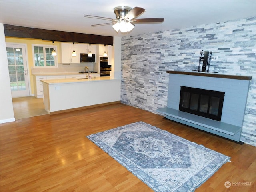
[(19, 97), (12, 98), (14, 118), (23, 119), (48, 114), (44, 109), (43, 98)]

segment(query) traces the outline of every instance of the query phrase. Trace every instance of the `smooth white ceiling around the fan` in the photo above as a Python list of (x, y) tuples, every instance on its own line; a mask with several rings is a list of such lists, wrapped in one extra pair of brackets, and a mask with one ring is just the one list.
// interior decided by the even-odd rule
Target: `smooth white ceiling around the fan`
[[(114, 7), (146, 9), (138, 18), (163, 17), (162, 24), (135, 24), (128, 34), (114, 31), (108, 22), (84, 14), (115, 19)], [(256, 0), (0, 0), (0, 22), (41, 29), (106, 36), (126, 36), (180, 29), (256, 16)]]

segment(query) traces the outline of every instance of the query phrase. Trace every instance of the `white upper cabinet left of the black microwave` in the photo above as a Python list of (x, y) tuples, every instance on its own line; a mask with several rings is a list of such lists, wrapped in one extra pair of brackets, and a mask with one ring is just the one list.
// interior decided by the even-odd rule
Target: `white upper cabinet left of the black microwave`
[[(76, 57), (72, 56), (72, 51), (76, 51)], [(80, 44), (60, 43), (60, 63), (80, 63)]]

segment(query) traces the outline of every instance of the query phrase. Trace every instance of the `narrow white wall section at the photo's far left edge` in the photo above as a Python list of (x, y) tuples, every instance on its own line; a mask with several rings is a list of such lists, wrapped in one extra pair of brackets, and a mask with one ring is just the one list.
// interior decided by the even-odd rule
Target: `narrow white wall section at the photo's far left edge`
[(12, 92), (8, 72), (4, 24), (0, 23), (0, 29), (0, 123), (6, 123), (15, 121), (15, 118), (12, 106)]

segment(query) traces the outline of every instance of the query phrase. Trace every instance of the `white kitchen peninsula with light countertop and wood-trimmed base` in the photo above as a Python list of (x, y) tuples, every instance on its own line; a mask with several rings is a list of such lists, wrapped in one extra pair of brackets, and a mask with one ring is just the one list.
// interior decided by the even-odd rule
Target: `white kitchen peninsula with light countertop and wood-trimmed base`
[(43, 83), (44, 108), (49, 114), (120, 102), (121, 79), (52, 79)]

